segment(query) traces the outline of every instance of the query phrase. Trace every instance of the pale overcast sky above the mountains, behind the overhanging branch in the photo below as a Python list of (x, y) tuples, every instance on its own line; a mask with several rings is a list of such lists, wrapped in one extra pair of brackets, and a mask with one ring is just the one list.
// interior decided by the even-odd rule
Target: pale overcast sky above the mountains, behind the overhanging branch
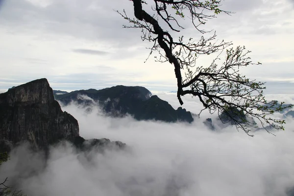
[[(294, 92), (294, 0), (224, 0), (235, 12), (209, 21), (219, 39), (245, 45), (263, 65), (242, 72), (267, 81), (270, 94)], [(0, 91), (46, 77), (53, 89), (141, 85), (176, 90), (173, 66), (150, 58), (139, 29), (114, 10), (133, 16), (128, 0), (0, 0)], [(188, 21), (183, 35), (193, 33)], [(204, 28), (204, 27), (203, 27)], [(204, 65), (208, 62), (200, 62)]]

